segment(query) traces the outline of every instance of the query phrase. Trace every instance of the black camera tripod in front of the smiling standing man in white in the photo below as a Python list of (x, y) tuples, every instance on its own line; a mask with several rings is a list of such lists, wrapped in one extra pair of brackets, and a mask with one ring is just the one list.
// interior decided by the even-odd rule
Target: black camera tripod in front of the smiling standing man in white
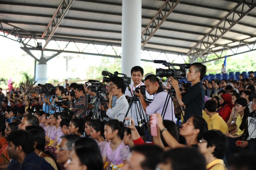
[[(128, 89), (129, 89), (129, 91), (130, 91), (130, 93), (131, 93), (130, 86), (128, 86)], [(132, 95), (132, 93), (131, 93), (131, 95)], [(143, 121), (142, 124), (145, 126), (145, 128), (147, 128), (147, 127), (146, 127), (146, 119), (147, 119), (147, 122), (148, 122), (148, 118), (147, 118), (147, 116), (146, 116), (146, 119), (145, 119), (145, 116), (144, 116), (144, 113), (143, 113), (143, 108), (142, 108), (141, 103), (140, 103), (140, 98), (139, 98), (138, 96), (136, 96), (136, 95), (132, 95), (132, 97), (129, 97), (129, 99), (130, 99), (130, 104), (129, 104), (129, 107), (128, 107), (127, 111), (126, 111), (125, 118), (127, 117), (128, 113), (129, 113), (129, 110), (130, 110), (130, 108), (131, 108), (131, 105), (134, 103), (134, 104), (135, 104), (134, 107), (135, 107), (135, 110), (136, 110), (137, 120), (139, 120), (139, 119), (138, 119), (138, 113), (139, 113), (139, 117), (140, 117), (140, 119)], [(139, 105), (138, 105), (137, 102), (139, 103)], [(137, 112), (137, 109), (138, 109), (138, 112)], [(144, 119), (142, 119), (142, 115), (143, 115), (143, 118), (144, 118)], [(123, 123), (125, 123), (125, 120), (123, 121)], [(138, 121), (138, 124), (140, 124), (140, 123), (141, 123), (141, 122)]]

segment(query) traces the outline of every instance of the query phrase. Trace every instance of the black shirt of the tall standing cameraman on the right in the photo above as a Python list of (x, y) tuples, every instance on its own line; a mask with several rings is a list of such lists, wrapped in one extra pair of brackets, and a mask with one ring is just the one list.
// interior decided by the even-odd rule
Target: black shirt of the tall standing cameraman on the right
[(189, 92), (182, 94), (182, 102), (186, 105), (184, 123), (192, 117), (193, 114), (203, 115), (205, 91), (201, 82), (192, 86)]

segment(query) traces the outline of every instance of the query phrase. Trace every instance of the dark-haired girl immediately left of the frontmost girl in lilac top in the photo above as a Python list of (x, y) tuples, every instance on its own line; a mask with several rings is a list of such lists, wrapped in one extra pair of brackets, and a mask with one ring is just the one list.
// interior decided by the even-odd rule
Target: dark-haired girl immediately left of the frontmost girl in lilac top
[(100, 120), (95, 121), (91, 125), (91, 134), (90, 134), (92, 139), (97, 140), (101, 155), (106, 143), (108, 143), (104, 138), (104, 126), (105, 124)]

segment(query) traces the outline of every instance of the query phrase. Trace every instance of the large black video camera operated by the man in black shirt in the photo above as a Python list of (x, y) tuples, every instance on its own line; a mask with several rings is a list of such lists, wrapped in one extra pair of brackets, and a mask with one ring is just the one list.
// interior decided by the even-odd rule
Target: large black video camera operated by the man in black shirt
[[(172, 76), (174, 79), (185, 79), (186, 78), (186, 68), (190, 67), (190, 64), (176, 64), (176, 63), (168, 63), (164, 60), (154, 60), (154, 63), (159, 63), (165, 65), (169, 69), (157, 68), (156, 69), (156, 77), (170, 77)], [(180, 69), (171, 69), (170, 66), (179, 66)]]

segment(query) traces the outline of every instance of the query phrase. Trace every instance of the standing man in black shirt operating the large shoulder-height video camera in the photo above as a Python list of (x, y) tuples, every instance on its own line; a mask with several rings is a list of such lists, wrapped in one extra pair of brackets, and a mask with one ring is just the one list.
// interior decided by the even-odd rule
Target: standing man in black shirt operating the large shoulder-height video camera
[(192, 88), (189, 92), (183, 94), (180, 94), (178, 81), (173, 77), (169, 77), (180, 106), (186, 105), (183, 123), (185, 123), (193, 114), (202, 116), (205, 91), (201, 81), (204, 78), (206, 71), (207, 67), (201, 63), (191, 64), (187, 73), (187, 81), (191, 82)]

